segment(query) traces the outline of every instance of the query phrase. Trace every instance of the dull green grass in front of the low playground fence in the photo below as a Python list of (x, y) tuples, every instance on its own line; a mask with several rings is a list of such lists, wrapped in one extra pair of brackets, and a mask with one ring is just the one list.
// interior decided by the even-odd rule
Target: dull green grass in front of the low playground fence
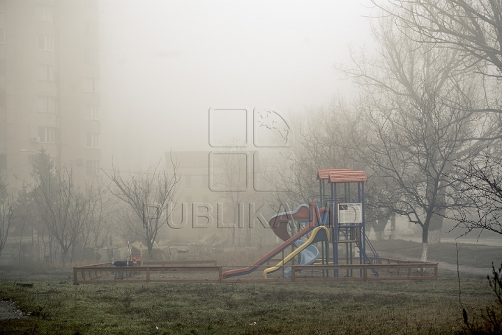
[[(100, 284), (0, 282), (31, 318), (1, 334), (452, 334), (462, 330), (457, 274), (368, 283)], [(470, 315), (492, 304), (487, 280), (462, 275)], [(256, 322), (256, 324), (254, 324)], [(158, 329), (157, 329), (158, 327)]]

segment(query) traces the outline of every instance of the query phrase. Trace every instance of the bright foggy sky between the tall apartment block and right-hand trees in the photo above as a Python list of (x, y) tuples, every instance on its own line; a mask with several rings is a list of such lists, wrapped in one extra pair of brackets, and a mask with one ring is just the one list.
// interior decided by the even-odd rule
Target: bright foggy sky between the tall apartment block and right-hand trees
[(102, 1), (102, 167), (208, 149), (210, 107), (288, 117), (350, 96), (333, 64), (372, 43), (369, 2)]

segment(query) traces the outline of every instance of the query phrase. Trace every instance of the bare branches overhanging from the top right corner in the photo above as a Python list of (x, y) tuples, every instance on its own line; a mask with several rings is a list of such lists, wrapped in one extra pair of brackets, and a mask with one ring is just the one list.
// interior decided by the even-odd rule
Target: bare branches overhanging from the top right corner
[[(430, 48), (449, 48), (466, 71), (480, 75), (484, 103), (473, 112), (492, 114), (502, 137), (502, 2), (499, 0), (373, 0), (402, 31)], [(406, 33), (405, 33), (406, 34)]]

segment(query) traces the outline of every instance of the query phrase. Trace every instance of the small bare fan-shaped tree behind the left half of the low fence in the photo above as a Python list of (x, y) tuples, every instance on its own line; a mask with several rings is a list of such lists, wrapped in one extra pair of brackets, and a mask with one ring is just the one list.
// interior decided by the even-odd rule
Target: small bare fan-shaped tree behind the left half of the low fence
[(149, 255), (160, 228), (167, 223), (168, 218), (161, 214), (165, 212), (169, 202), (176, 202), (180, 181), (178, 163), (171, 161), (172, 174), (159, 171), (159, 165), (160, 162), (146, 170), (128, 172), (127, 177), (123, 177), (121, 171), (114, 166), (110, 174), (105, 172), (112, 181), (109, 190), (128, 204), (128, 209), (122, 211), (124, 223), (144, 239)]

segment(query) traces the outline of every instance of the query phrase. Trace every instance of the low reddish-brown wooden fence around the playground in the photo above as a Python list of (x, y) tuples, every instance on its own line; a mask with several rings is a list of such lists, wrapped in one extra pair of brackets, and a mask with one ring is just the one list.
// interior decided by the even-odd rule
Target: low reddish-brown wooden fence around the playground
[[(291, 278), (229, 278), (223, 279), (223, 269), (234, 267), (216, 266), (215, 260), (204, 261), (169, 261), (144, 262), (142, 266), (112, 267), (109, 262), (86, 265), (73, 268), (75, 283), (120, 283), (120, 282), (178, 282), (178, 283), (261, 283), (261, 282), (295, 282), (295, 281), (403, 281), (403, 280), (436, 280), (438, 265), (432, 262), (418, 262), (381, 258), (383, 264), (353, 264), (353, 265), (291, 265)], [(387, 262), (387, 264), (385, 264)], [(199, 265), (199, 266), (195, 266)], [(386, 270), (379, 277), (372, 276), (372, 269)], [(359, 270), (360, 276), (314, 276), (322, 270)], [(415, 271), (413, 271), (415, 270)], [(432, 271), (432, 274), (426, 272)], [(312, 276), (298, 276), (298, 272)], [(370, 271), (370, 273), (368, 273)], [(120, 274), (121, 276), (117, 276)], [(162, 274), (162, 276), (160, 276)], [(165, 278), (166, 275), (190, 274), (189, 278)], [(109, 275), (114, 275), (110, 278)], [(192, 278), (192, 276), (207, 276), (213, 278)], [(119, 281), (117, 278), (127, 278)]]

